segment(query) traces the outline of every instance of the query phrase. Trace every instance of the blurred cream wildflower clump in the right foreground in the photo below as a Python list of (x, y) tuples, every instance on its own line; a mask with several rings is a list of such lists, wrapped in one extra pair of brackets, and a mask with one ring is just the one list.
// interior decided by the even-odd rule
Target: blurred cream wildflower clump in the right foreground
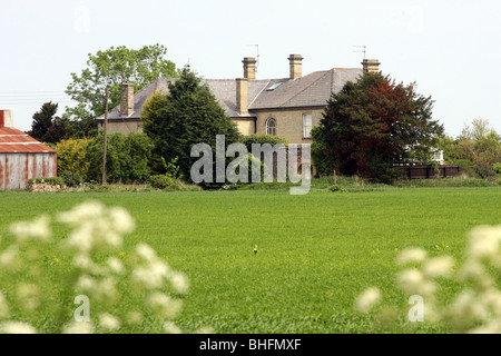
[[(396, 264), (402, 267), (396, 284), (410, 304), (422, 301), (419, 322), (443, 325), (451, 333), (501, 333), (501, 225), (473, 228), (461, 264), (451, 256), (430, 257), (420, 247), (401, 251)], [(371, 287), (355, 300), (355, 308), (370, 313), (382, 299), (380, 289)], [(394, 323), (397, 309), (379, 308), (376, 325)], [(407, 322), (415, 322), (413, 312), (409, 310)]]

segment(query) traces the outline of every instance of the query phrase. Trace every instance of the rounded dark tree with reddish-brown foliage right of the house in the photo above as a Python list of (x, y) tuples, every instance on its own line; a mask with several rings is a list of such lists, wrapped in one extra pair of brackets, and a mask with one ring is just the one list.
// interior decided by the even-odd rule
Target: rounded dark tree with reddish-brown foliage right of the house
[(333, 93), (312, 132), (322, 168), (390, 181), (395, 161), (429, 160), (443, 126), (432, 119), (431, 97), (418, 95), (414, 86), (365, 73)]

